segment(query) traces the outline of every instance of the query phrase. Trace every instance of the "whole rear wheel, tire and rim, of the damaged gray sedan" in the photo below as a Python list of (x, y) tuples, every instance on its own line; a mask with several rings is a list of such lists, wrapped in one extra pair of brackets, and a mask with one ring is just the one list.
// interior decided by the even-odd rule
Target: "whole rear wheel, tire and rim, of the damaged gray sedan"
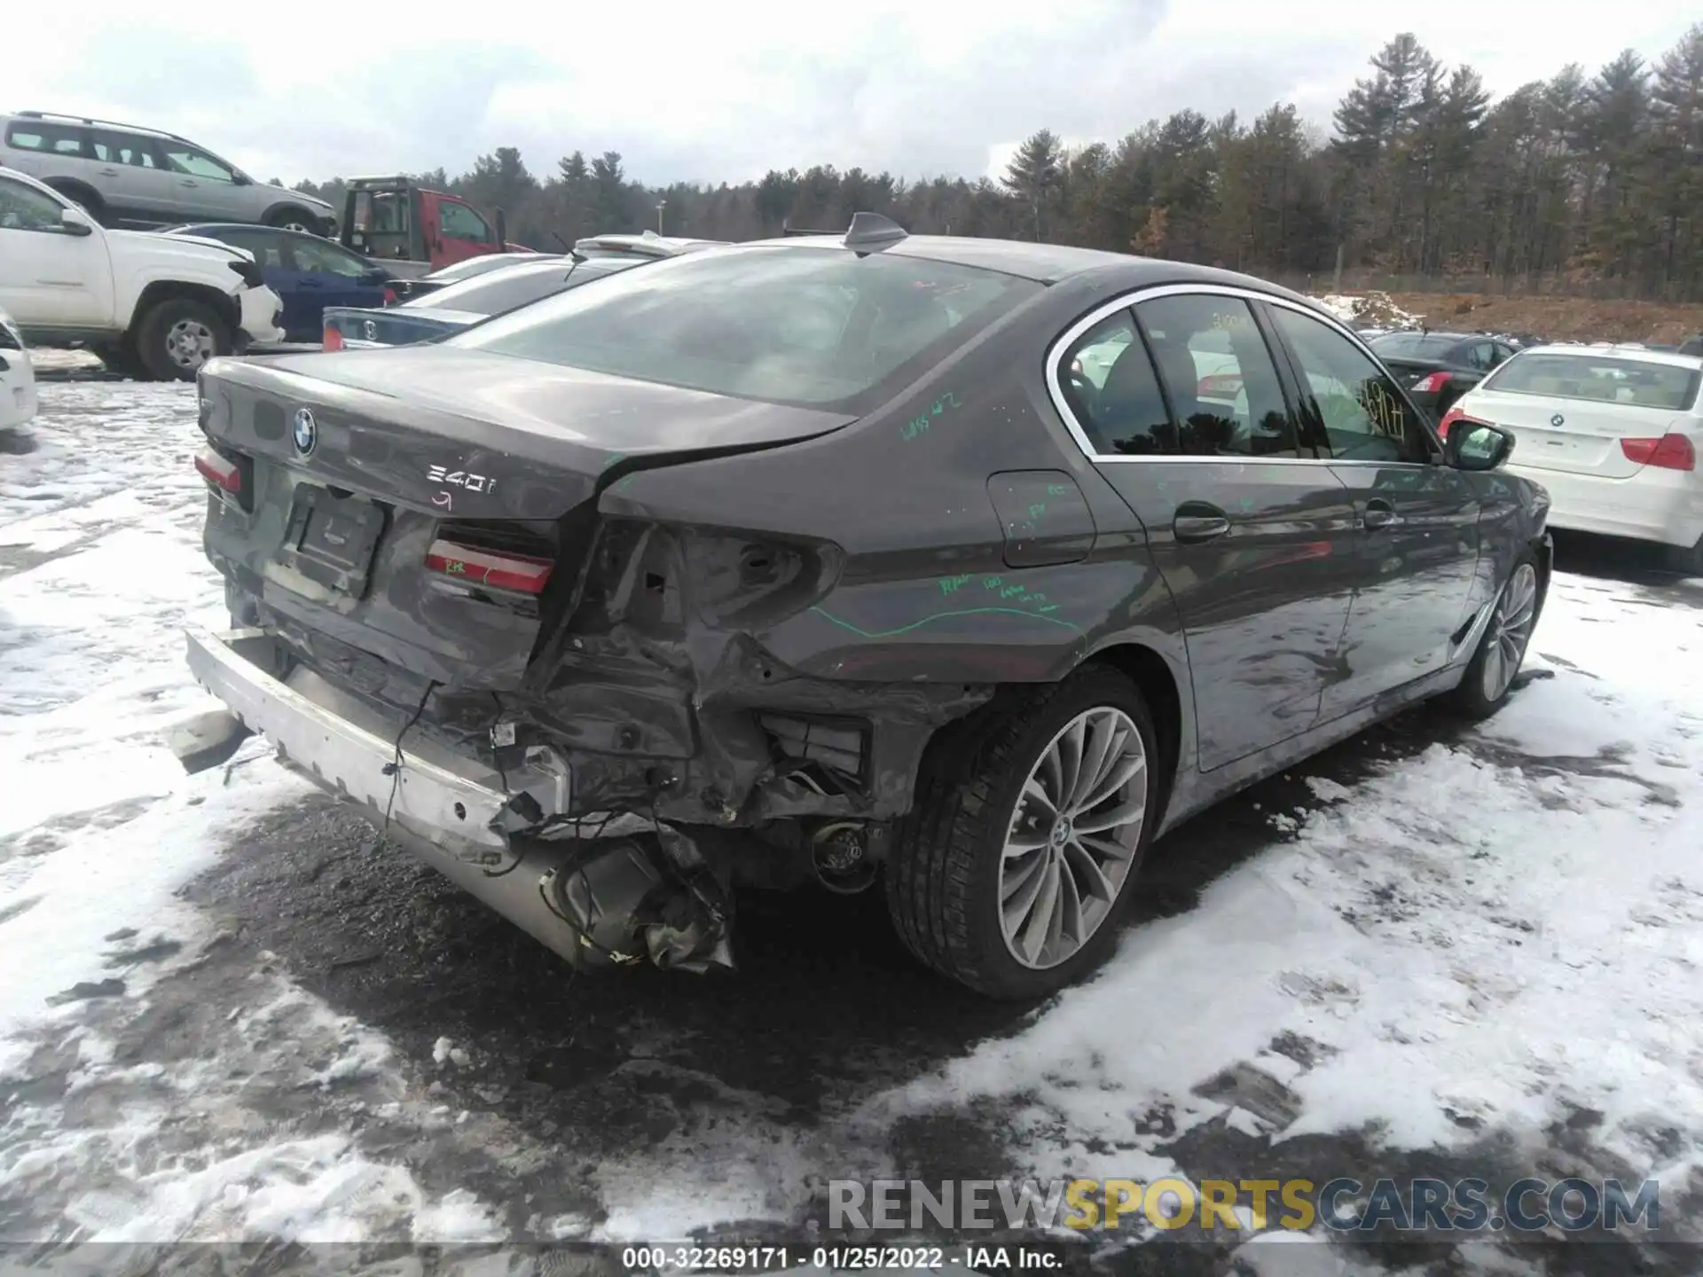
[(1146, 701), (1105, 667), (937, 737), (887, 862), (906, 947), (991, 998), (1046, 996), (1092, 971), (1153, 838), (1158, 758)]

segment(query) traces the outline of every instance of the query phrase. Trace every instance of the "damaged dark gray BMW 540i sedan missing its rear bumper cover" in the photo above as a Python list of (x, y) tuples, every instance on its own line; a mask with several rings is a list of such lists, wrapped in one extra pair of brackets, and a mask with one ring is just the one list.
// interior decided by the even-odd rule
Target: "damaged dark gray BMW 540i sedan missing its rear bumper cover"
[(1155, 836), (1502, 705), (1550, 579), (1512, 438), (1439, 441), (1304, 298), (863, 213), (218, 359), (199, 410), (228, 741), (577, 965), (731, 965), (739, 887), (877, 887), (935, 971), (1051, 993)]

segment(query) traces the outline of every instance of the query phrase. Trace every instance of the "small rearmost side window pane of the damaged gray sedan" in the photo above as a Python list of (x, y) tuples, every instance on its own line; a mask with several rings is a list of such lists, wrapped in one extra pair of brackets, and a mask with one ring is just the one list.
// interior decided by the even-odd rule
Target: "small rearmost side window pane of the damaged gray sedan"
[(1059, 390), (1095, 453), (1175, 453), (1177, 431), (1136, 320), (1121, 310), (1064, 352)]

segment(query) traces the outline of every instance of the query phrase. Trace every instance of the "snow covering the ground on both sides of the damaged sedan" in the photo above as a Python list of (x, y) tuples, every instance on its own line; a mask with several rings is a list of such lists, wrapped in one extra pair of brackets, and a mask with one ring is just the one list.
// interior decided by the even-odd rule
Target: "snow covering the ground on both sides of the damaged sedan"
[[(632, 1051), (610, 1076), (697, 1105), (714, 1161), (668, 1136), (594, 1166), (601, 1200), (552, 1200), (577, 1132), (460, 1108), (434, 1078), (465, 1044), (402, 1057), (272, 955), (221, 959), (228, 936), (177, 894), (307, 792), (254, 744), (198, 776), (160, 744), (206, 703), (179, 627), (223, 621), (194, 441), (189, 387), (48, 383), (37, 446), (0, 458), (7, 1240), (785, 1223), (812, 1170), (879, 1173), (869, 1131), (935, 1117), (1041, 1177), (1189, 1178), (1213, 1132), (1253, 1160), (1320, 1139), (1468, 1158), (1492, 1137), (1538, 1160), (1560, 1124), (1599, 1166), (1677, 1183), (1700, 1160), (1703, 610), (1563, 574), (1534, 642), (1548, 678), (1356, 783), (1296, 768), (1310, 797), (1262, 812), (1264, 851), (1017, 1032), (804, 1120), (714, 1059)], [(446, 1171), (479, 1158), (479, 1183)], [(1277, 1250), (1236, 1262), (1277, 1272)], [(1310, 1262), (1362, 1270), (1339, 1250)]]

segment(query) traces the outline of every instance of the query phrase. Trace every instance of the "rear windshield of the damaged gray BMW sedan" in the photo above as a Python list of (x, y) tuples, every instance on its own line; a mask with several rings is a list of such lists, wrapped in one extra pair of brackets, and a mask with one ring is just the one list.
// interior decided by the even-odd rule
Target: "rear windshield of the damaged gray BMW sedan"
[(1042, 284), (843, 249), (707, 249), (463, 335), (521, 359), (862, 414)]

